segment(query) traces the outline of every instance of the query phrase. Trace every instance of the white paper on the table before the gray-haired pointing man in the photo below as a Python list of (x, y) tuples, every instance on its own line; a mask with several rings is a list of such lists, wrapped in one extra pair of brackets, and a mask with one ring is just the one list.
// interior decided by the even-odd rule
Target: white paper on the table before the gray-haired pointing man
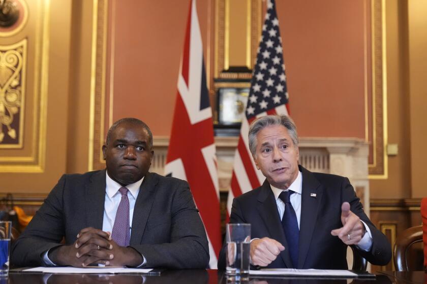
[(356, 273), (348, 270), (322, 270), (322, 269), (261, 269), (250, 270), (250, 275), (289, 275), (289, 276), (327, 276), (327, 277), (357, 277)]

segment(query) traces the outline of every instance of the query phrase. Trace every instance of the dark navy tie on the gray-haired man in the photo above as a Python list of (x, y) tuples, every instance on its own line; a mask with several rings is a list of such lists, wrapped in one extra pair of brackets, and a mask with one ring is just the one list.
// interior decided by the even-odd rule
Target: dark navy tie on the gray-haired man
[(289, 255), (294, 268), (298, 265), (298, 238), (299, 228), (296, 219), (295, 210), (292, 207), (290, 196), (294, 193), (292, 190), (282, 191), (279, 198), (285, 203), (285, 212), (283, 212), (282, 227), (288, 241)]

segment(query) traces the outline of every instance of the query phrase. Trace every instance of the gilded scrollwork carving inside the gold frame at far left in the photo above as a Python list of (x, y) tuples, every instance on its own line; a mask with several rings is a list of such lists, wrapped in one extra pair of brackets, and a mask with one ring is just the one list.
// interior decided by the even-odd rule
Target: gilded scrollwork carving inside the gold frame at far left
[(0, 46), (0, 144), (19, 144), (24, 98), (26, 39)]

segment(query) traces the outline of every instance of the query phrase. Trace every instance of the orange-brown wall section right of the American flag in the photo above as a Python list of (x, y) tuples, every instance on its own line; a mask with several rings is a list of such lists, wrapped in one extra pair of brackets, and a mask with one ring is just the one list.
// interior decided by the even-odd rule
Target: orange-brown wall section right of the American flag
[(277, 1), (301, 136), (364, 138), (363, 1)]

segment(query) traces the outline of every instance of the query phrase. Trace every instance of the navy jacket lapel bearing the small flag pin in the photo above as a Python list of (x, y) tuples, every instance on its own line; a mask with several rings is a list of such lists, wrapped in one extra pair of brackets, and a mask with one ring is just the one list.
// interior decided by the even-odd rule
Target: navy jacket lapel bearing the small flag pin
[(302, 195), (297, 268), (302, 268), (306, 261), (323, 194), (323, 187), (313, 173), (301, 166), (300, 170), (302, 172)]

